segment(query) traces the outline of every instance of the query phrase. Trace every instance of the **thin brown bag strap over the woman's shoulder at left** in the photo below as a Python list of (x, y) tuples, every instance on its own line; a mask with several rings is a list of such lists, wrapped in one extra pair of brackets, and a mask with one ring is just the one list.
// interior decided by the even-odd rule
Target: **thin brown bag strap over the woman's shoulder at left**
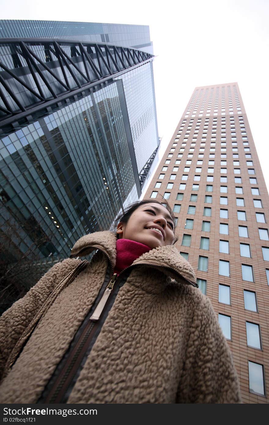
[(16, 345), (14, 346), (13, 350), (11, 351), (8, 360), (6, 362), (6, 366), (3, 372), (3, 377), (5, 377), (8, 372), (10, 371), (11, 367), (14, 365), (15, 361), (20, 355), (20, 352), (22, 351), (23, 347), (25, 346), (26, 342), (30, 338), (31, 334), (34, 332), (34, 329), (37, 327), (40, 319), (45, 315), (45, 313), (48, 311), (48, 309), (52, 306), (54, 301), (56, 300), (59, 293), (66, 288), (66, 286), (69, 285), (69, 283), (74, 280), (76, 275), (78, 275), (85, 267), (88, 265), (88, 261), (84, 260), (79, 263), (74, 270), (71, 270), (71, 272), (68, 273), (68, 275), (65, 276), (65, 278), (57, 285), (53, 291), (51, 291), (50, 295), (48, 295), (48, 298), (43, 303), (40, 310), (37, 312), (37, 314), (34, 316), (34, 318), (31, 320), (27, 328), (24, 330), (23, 334), (21, 335), (20, 339), (17, 341)]

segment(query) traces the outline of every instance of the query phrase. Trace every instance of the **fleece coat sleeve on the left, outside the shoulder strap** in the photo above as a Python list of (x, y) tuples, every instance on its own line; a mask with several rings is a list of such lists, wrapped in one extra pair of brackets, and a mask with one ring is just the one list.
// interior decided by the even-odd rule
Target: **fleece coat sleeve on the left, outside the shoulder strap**
[(79, 263), (67, 259), (55, 264), (27, 294), (16, 301), (0, 318), (0, 380), (6, 361), (31, 320), (40, 310), (51, 291)]

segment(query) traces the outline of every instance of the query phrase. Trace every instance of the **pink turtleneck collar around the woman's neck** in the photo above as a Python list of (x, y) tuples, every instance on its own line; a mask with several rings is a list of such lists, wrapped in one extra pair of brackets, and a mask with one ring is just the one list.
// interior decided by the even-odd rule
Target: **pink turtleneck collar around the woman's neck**
[(149, 252), (151, 248), (147, 245), (140, 244), (129, 239), (117, 239), (116, 242), (116, 266), (114, 273), (119, 273), (129, 267), (136, 258), (145, 252)]

